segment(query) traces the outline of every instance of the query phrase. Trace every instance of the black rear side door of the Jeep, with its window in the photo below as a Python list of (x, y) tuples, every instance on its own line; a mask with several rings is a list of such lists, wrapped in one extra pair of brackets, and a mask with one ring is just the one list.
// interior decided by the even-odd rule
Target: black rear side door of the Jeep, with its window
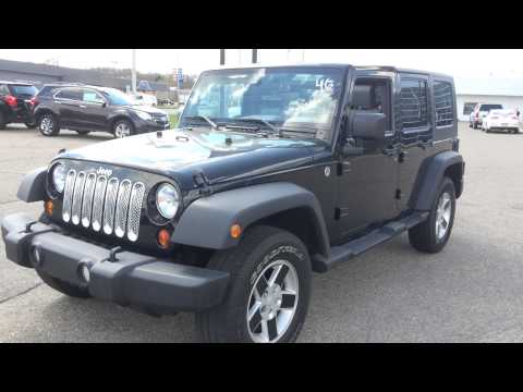
[(433, 113), (429, 76), (400, 73), (397, 111), (400, 119), (398, 164), (398, 208), (409, 208), (414, 184), (433, 140)]

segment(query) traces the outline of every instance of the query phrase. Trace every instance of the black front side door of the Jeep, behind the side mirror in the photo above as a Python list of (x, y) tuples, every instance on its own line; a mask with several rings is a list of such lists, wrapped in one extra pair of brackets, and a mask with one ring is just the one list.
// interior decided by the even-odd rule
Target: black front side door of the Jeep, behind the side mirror
[(365, 74), (355, 81), (351, 110), (386, 114), (388, 131), (384, 147), (362, 142), (361, 155), (342, 158), (338, 211), (341, 237), (356, 234), (398, 215), (392, 86), (392, 73)]

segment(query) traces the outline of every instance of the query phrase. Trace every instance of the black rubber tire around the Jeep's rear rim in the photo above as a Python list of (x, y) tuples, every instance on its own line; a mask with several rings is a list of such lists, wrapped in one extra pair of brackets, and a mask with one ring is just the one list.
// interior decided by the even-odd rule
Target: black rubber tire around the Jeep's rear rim
[[(436, 230), (436, 221), (438, 218), (438, 204), (443, 194), (450, 196), (450, 219), (447, 225), (445, 235), (439, 238)], [(436, 194), (430, 213), (426, 221), (409, 230), (409, 241), (411, 245), (424, 253), (438, 253), (440, 252), (447, 242), (449, 241), (450, 233), (452, 232), (452, 225), (454, 223), (455, 216), (455, 189), (454, 183), (449, 177), (445, 176), (439, 185)]]

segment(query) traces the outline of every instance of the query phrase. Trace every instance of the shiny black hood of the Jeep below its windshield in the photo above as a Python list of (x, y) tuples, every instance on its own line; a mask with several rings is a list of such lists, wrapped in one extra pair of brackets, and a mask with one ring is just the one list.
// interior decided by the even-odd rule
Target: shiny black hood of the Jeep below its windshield
[(217, 183), (296, 168), (313, 161), (319, 140), (262, 138), (212, 130), (171, 130), (104, 142), (63, 152), (58, 158), (87, 160), (159, 173), (184, 188), (203, 171)]

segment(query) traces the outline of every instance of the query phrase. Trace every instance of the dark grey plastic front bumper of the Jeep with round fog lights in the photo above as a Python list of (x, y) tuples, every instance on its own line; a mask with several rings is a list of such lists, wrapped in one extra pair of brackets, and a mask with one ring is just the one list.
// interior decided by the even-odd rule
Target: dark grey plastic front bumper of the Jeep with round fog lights
[[(106, 247), (73, 238), (59, 228), (36, 222), (25, 215), (5, 217), (1, 223), (8, 259), (20, 266), (86, 287), (94, 297), (158, 314), (199, 311), (219, 305), (229, 273), (183, 266), (132, 252), (111, 261)], [(39, 250), (39, 261), (35, 258)], [(85, 282), (81, 267), (88, 266)]]

